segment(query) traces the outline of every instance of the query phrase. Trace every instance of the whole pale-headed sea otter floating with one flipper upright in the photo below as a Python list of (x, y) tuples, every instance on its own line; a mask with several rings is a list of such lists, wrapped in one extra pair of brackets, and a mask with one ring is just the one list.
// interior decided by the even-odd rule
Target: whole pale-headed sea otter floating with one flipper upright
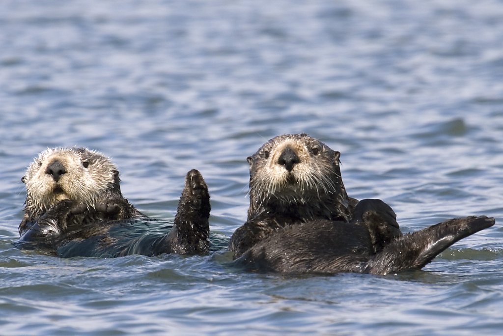
[(60, 257), (208, 251), (210, 197), (197, 170), (187, 173), (167, 234), (150, 232), (155, 220), (122, 196), (117, 166), (99, 152), (48, 149), (30, 164), (22, 181), (27, 197), (18, 246), (44, 247)]

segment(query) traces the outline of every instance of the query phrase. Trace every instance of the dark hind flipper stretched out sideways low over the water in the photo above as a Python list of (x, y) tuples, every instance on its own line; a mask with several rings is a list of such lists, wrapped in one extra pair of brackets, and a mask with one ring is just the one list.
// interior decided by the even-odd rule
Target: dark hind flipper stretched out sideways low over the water
[(446, 248), (475, 232), (494, 225), (494, 218), (470, 216), (450, 219), (396, 238), (367, 264), (371, 274), (418, 270)]

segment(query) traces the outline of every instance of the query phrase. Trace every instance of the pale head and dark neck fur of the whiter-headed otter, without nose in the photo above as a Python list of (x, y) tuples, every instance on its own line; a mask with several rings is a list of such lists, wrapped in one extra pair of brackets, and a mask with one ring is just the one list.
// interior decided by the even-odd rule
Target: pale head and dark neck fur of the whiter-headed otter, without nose
[[(61, 162), (66, 173), (55, 181), (47, 173), (53, 162)], [(62, 200), (74, 200), (87, 211), (47, 230), (59, 233), (70, 224), (100, 220), (122, 220), (141, 213), (122, 196), (117, 166), (105, 155), (87, 148), (54, 148), (42, 152), (22, 178), (26, 185), (25, 215), (19, 225), (23, 233)]]

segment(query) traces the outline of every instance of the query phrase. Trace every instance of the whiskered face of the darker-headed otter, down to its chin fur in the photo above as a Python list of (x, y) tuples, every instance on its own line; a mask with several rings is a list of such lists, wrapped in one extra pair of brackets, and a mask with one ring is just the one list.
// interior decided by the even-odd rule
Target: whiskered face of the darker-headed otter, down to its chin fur
[(280, 135), (269, 140), (247, 158), (250, 207), (268, 201), (284, 205), (309, 204), (313, 200), (319, 203), (323, 198), (346, 194), (339, 157), (340, 152), (307, 134)]

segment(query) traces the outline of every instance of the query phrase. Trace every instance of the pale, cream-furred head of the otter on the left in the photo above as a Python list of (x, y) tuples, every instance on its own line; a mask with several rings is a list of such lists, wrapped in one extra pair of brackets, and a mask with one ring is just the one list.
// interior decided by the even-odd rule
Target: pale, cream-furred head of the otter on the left
[(117, 166), (87, 148), (47, 149), (34, 159), (21, 181), (27, 192), (25, 211), (31, 217), (61, 200), (94, 207), (104, 193), (120, 193)]

